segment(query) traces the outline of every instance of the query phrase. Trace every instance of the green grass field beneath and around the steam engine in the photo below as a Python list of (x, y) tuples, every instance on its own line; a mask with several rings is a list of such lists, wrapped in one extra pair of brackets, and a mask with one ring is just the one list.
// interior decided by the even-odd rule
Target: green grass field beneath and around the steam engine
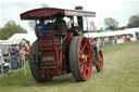
[(104, 68), (76, 82), (72, 75), (38, 83), (29, 70), (0, 78), (0, 92), (139, 92), (139, 41), (104, 48)]

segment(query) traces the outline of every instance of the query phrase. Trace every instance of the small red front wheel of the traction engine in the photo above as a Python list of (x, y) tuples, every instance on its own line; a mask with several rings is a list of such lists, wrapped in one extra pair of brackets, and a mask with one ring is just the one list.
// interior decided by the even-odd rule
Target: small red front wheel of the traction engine
[(96, 64), (97, 71), (101, 71), (103, 69), (103, 54), (102, 51), (98, 51), (98, 63)]

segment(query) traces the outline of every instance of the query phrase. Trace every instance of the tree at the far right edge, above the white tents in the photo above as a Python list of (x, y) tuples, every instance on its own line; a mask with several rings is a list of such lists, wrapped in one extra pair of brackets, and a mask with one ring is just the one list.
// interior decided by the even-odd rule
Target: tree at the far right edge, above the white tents
[(131, 15), (129, 17), (129, 21), (128, 21), (128, 24), (127, 24), (127, 27), (128, 28), (131, 28), (131, 27), (137, 27), (139, 26), (139, 14), (137, 15)]

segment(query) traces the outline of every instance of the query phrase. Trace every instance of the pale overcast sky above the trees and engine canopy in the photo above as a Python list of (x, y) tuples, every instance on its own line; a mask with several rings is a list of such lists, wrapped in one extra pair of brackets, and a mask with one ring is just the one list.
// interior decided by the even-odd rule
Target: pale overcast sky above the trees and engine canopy
[(85, 11), (96, 12), (96, 17), (89, 21), (94, 22), (97, 29), (104, 27), (105, 17), (113, 17), (119, 26), (126, 26), (128, 18), (139, 13), (139, 0), (0, 0), (0, 27), (3, 27), (8, 21), (14, 21), (28, 32), (34, 32), (27, 21), (21, 21), (20, 14), (41, 8), (42, 4), (71, 10), (81, 5)]

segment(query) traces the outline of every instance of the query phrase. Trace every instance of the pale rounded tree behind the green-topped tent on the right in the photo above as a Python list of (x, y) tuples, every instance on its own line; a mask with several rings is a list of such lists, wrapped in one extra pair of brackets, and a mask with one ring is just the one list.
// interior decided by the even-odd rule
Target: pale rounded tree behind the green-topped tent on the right
[(106, 26), (108, 29), (116, 29), (116, 21), (112, 17), (106, 17), (104, 18), (104, 25)]

